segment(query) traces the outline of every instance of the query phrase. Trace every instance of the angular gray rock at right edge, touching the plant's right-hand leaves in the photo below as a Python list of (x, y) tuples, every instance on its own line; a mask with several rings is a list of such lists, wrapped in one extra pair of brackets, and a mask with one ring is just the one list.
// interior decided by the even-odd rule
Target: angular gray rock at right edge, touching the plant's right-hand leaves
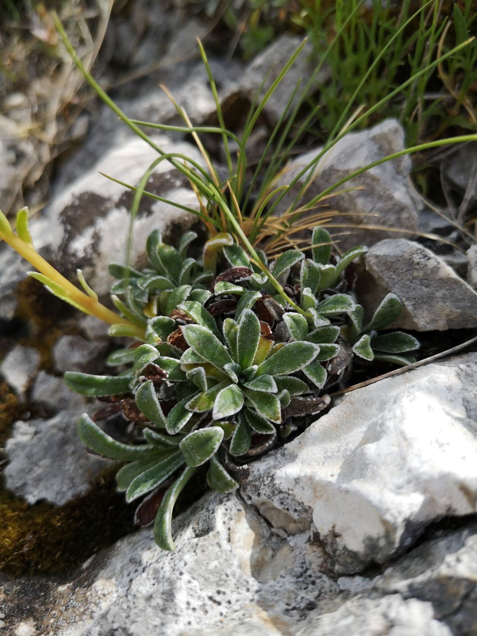
[(371, 314), (387, 293), (404, 305), (392, 327), (444, 331), (477, 326), (477, 294), (443, 259), (405, 239), (387, 239), (366, 254), (359, 298)]

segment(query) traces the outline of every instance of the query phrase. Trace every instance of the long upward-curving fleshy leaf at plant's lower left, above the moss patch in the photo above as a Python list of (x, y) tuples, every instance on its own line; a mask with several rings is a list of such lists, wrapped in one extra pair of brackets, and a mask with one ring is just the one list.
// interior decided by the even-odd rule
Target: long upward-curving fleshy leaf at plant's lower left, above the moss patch
[(130, 446), (116, 441), (102, 431), (86, 413), (83, 413), (78, 420), (78, 434), (83, 444), (109, 459), (134, 461), (135, 459), (153, 459), (153, 457), (158, 457), (160, 460), (161, 457), (160, 450), (150, 444)]

